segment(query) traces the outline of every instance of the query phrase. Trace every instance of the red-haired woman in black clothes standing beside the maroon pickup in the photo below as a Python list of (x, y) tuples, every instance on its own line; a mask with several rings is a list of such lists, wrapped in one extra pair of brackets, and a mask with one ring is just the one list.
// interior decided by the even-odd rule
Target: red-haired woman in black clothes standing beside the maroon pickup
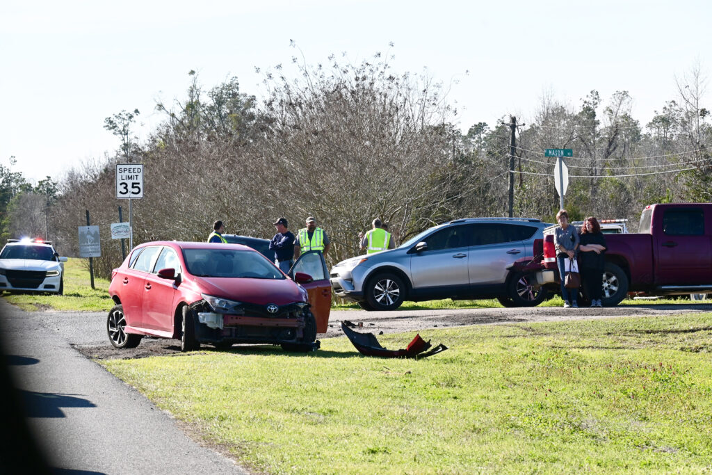
[(603, 257), (606, 251), (606, 239), (601, 232), (601, 225), (597, 219), (589, 216), (581, 226), (580, 246), (579, 246), (579, 266), (583, 285), (591, 296), (592, 307), (602, 307), (601, 302), (603, 285), (602, 276), (605, 260)]

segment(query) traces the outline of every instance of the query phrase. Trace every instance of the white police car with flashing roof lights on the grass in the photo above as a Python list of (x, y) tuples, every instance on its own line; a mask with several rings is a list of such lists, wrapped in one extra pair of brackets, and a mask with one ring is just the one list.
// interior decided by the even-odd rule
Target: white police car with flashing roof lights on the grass
[(66, 257), (50, 241), (8, 239), (0, 252), (0, 291), (51, 292), (62, 295)]

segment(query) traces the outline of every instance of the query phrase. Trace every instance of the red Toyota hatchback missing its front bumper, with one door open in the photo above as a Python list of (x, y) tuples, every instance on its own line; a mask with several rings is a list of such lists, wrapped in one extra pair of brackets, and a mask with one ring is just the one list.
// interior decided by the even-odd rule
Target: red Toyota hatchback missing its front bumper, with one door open
[(146, 335), (178, 338), (182, 351), (201, 343), (312, 350), (328, 326), (328, 277), (317, 251), (302, 254), (286, 276), (239, 244), (141, 244), (112, 271), (109, 340), (116, 348), (135, 348)]

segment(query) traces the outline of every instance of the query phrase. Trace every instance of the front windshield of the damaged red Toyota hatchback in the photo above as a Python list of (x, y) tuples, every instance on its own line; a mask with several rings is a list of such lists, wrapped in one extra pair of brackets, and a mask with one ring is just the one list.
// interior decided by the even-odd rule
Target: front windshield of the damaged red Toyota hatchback
[(256, 251), (183, 249), (188, 272), (197, 277), (283, 279), (284, 274)]

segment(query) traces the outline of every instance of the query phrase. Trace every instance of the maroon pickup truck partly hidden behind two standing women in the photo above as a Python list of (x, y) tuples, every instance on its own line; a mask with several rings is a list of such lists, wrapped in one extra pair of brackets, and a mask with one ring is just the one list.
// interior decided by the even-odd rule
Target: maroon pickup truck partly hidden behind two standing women
[[(637, 234), (607, 234), (603, 305), (628, 292), (651, 296), (712, 293), (712, 204), (651, 204)], [(535, 286), (560, 292), (554, 236), (546, 234), (543, 259), (528, 263)], [(588, 301), (582, 296), (582, 301)]]

